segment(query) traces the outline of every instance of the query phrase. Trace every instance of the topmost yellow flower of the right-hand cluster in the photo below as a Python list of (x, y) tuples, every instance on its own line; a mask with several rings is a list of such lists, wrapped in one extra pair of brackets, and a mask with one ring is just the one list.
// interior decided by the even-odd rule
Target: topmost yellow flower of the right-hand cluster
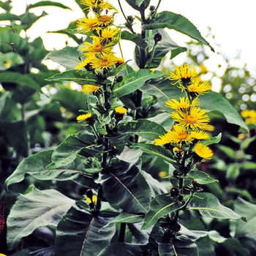
[(184, 64), (181, 67), (176, 67), (176, 72), (170, 72), (169, 79), (177, 80), (175, 83), (181, 83), (181, 85), (189, 85), (195, 80), (198, 75), (197, 69), (195, 67), (189, 67), (189, 64)]

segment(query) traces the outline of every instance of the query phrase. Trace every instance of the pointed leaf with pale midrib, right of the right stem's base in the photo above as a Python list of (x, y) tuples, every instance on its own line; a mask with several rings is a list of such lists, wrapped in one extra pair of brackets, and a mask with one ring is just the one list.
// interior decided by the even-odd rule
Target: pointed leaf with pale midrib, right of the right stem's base
[(230, 208), (222, 206), (217, 197), (211, 193), (196, 193), (185, 211), (195, 214), (195, 217), (211, 217), (217, 219), (241, 219), (242, 217)]

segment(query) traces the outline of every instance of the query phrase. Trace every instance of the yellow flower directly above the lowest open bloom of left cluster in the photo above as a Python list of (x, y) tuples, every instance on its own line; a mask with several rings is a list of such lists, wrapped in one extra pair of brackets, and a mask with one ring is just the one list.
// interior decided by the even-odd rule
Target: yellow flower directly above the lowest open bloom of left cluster
[(92, 44), (90, 42), (83, 42), (82, 55), (86, 57), (94, 56), (95, 54), (102, 55), (103, 53), (109, 53), (113, 49), (113, 44), (103, 45), (99, 37), (93, 37)]

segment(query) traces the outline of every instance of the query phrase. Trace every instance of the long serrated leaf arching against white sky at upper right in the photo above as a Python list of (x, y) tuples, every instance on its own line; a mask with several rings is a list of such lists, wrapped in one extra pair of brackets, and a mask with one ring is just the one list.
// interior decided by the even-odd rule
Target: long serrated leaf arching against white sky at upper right
[(143, 25), (142, 29), (175, 29), (182, 34), (186, 34), (192, 39), (196, 39), (203, 45), (207, 45), (214, 51), (214, 48), (204, 39), (197, 28), (184, 16), (176, 14), (174, 12), (159, 12), (157, 17), (152, 20), (151, 24)]

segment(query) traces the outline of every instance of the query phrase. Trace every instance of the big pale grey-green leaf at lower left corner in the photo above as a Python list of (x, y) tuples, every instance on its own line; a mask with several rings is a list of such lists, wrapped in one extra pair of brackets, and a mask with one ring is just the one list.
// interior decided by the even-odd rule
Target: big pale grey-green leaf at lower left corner
[(29, 236), (37, 227), (56, 227), (75, 200), (55, 189), (34, 189), (27, 195), (19, 195), (7, 218), (7, 243), (15, 249), (20, 239)]

